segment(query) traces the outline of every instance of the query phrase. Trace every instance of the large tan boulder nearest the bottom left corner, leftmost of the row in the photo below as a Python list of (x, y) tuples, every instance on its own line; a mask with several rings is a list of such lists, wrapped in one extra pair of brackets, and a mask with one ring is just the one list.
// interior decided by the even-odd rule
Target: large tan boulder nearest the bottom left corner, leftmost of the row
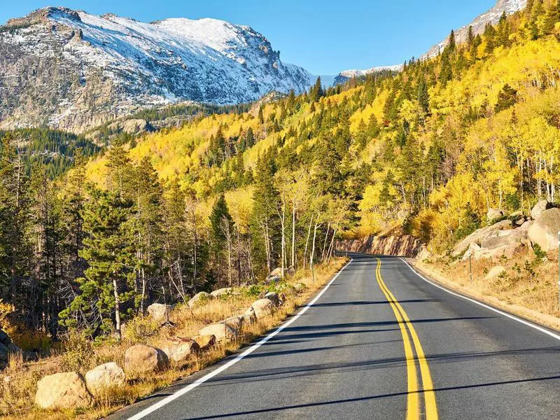
[(92, 395), (76, 372), (50, 374), (37, 382), (35, 404), (42, 409), (89, 407), (92, 402)]

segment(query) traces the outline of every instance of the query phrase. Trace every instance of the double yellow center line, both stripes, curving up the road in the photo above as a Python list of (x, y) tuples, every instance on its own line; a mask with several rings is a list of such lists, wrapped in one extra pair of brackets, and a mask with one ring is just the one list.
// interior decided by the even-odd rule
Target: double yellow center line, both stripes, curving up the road
[[(384, 293), (387, 301), (391, 304), (391, 308), (397, 318), (402, 342), (405, 344), (405, 358), (407, 360), (407, 420), (420, 419), (419, 395), (423, 395), (424, 409), (426, 410), (426, 420), (437, 420), (437, 405), (435, 404), (435, 393), (433, 391), (432, 376), (430, 367), (424, 355), (422, 345), (414, 325), (410, 322), (405, 309), (402, 309), (400, 303), (395, 299), (391, 290), (389, 290), (381, 277), (381, 260), (377, 258), (377, 267), (375, 268), (375, 278), (379, 284), (379, 288)], [(412, 342), (411, 342), (412, 337)], [(416, 358), (412, 350), (412, 344), (416, 350)], [(416, 373), (416, 359), (420, 367), (421, 391), (419, 391), (418, 375)]]

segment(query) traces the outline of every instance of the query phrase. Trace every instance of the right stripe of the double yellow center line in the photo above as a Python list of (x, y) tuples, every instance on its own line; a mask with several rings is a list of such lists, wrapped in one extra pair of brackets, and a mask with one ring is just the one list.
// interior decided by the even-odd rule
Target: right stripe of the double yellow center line
[[(422, 388), (423, 388), (423, 396), (424, 396), (424, 406), (426, 409), (426, 420), (437, 420), (437, 405), (435, 402), (435, 392), (433, 391), (433, 381), (432, 376), (430, 374), (430, 367), (428, 366), (428, 361), (426, 360), (426, 355), (423, 351), (422, 344), (420, 343), (420, 339), (416, 334), (416, 330), (414, 329), (414, 325), (410, 321), (405, 309), (402, 308), (400, 303), (396, 300), (395, 295), (391, 293), (391, 290), (386, 286), (383, 278), (381, 277), (381, 260), (377, 258), (377, 269), (376, 269), (376, 276), (377, 276), (377, 283), (379, 283), (379, 287), (381, 291), (387, 297), (387, 300), (391, 303), (391, 307), (393, 308), (393, 312), (395, 311), (395, 307), (397, 308), (400, 316), (397, 316), (397, 321), (400, 324), (399, 318), (402, 317), (404, 319), (405, 324), (412, 336), (412, 342), (414, 342), (414, 349), (416, 349), (416, 356), (418, 356), (418, 363), (420, 365), (420, 374), (422, 377)], [(394, 306), (393, 306), (394, 305)], [(395, 316), (397, 314), (395, 313)], [(414, 363), (414, 362), (413, 362)], [(415, 370), (414, 370), (415, 371)], [(410, 381), (410, 378), (408, 378)], [(414, 381), (416, 381), (416, 377), (414, 377)], [(409, 419), (409, 414), (407, 414), (407, 419)]]

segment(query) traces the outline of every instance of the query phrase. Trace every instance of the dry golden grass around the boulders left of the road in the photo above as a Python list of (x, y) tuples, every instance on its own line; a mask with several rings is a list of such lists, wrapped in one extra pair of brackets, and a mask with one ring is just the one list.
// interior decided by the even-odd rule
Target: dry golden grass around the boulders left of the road
[[(136, 318), (126, 325), (123, 341), (120, 343), (106, 342), (94, 345), (79, 335), (73, 335), (69, 337), (65, 348), (59, 350), (55, 356), (27, 363), (24, 363), (21, 358), (14, 358), (10, 360), (10, 365), (3, 372), (4, 376), (0, 377), (0, 416), (3, 419), (29, 420), (43, 420), (45, 416), (55, 420), (99, 419), (115, 412), (139, 398), (169, 386), (174, 381), (188, 377), (190, 374), (216, 363), (221, 358), (235, 353), (255, 337), (276, 327), (290, 314), (293, 314), (297, 307), (307, 302), (309, 297), (321, 288), (345, 262), (344, 258), (335, 258), (330, 264), (318, 265), (315, 269), (315, 281), (309, 271), (297, 272), (295, 276), (288, 279), (287, 283), (281, 283), (276, 287), (277, 291), (285, 293), (287, 298), (283, 306), (272, 316), (244, 328), (237, 339), (214, 346), (199, 358), (193, 358), (192, 362), (187, 365), (172, 365), (167, 372), (153, 375), (150, 378), (129, 381), (124, 388), (105, 393), (102, 398), (95, 401), (94, 406), (90, 409), (56, 412), (45, 412), (38, 409), (34, 406), (37, 381), (45, 375), (55, 372), (74, 370), (84, 374), (87, 370), (110, 361), (123, 366), (127, 347), (133, 344), (159, 346), (170, 337), (193, 337), (204, 325), (242, 314), (257, 297), (254, 293), (249, 293), (248, 289), (240, 289), (239, 295), (212, 300), (192, 311), (186, 305), (178, 305), (170, 312), (170, 321), (174, 323), (172, 327), (160, 328), (159, 323), (154, 323), (151, 318)], [(292, 287), (295, 283), (304, 283), (307, 288), (297, 292)], [(254, 290), (253, 288), (253, 292)]]

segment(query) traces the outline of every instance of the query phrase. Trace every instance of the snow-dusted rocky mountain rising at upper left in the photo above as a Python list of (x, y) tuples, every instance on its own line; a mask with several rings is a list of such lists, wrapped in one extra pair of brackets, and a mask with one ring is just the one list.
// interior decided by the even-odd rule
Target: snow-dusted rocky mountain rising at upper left
[(0, 27), (0, 127), (78, 130), (139, 107), (251, 102), (314, 80), (262, 34), (222, 20), (144, 23), (47, 7)]

